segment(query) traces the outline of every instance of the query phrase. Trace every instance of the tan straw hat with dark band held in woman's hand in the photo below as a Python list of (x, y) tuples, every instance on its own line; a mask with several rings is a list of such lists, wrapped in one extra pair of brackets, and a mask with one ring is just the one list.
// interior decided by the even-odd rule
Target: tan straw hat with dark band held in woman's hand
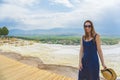
[(117, 78), (115, 71), (111, 68), (101, 70), (101, 73), (106, 80), (116, 80)]

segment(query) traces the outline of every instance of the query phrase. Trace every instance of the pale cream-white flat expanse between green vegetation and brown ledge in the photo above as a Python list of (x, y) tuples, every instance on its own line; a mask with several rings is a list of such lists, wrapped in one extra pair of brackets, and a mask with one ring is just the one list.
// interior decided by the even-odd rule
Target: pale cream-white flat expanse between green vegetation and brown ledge
[[(27, 56), (39, 57), (46, 64), (59, 64), (78, 67), (80, 45), (60, 45), (35, 43), (29, 46), (1, 46), (4, 51), (11, 51)], [(120, 44), (102, 45), (107, 67), (113, 68), (120, 76)]]

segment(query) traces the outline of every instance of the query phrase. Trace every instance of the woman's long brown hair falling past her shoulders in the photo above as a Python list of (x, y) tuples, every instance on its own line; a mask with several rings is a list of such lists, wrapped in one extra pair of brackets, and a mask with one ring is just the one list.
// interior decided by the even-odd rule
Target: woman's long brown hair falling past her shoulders
[(94, 38), (96, 32), (95, 32), (95, 29), (94, 29), (94, 25), (93, 25), (92, 21), (90, 21), (90, 20), (86, 20), (86, 21), (84, 22), (84, 31), (85, 31), (84, 38), (86, 39), (86, 38), (89, 37), (88, 33), (87, 33), (86, 30), (85, 30), (85, 24), (86, 24), (87, 22), (89, 22), (89, 23), (91, 24), (91, 36), (92, 36), (92, 38)]

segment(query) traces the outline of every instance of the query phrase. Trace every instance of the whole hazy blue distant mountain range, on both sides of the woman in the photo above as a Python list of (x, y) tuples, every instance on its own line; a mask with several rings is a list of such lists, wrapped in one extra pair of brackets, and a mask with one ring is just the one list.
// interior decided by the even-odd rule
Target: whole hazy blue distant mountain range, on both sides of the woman
[[(109, 32), (97, 30), (102, 36), (120, 37), (118, 32)], [(84, 30), (81, 28), (52, 28), (52, 29), (35, 29), (35, 30), (21, 30), (12, 29), (9, 32), (10, 36), (23, 36), (23, 35), (82, 35)]]

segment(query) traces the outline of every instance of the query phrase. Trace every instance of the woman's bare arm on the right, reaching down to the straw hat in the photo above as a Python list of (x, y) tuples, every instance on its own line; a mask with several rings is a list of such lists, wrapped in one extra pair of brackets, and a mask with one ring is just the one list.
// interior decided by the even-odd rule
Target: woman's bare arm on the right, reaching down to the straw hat
[(100, 35), (99, 34), (97, 34), (97, 36), (96, 36), (96, 45), (97, 45), (97, 50), (98, 50), (98, 54), (99, 54), (102, 66), (104, 68), (106, 68), (106, 65), (104, 63), (104, 58), (103, 58), (103, 52), (102, 52), (102, 49), (101, 49), (101, 40), (100, 40)]

